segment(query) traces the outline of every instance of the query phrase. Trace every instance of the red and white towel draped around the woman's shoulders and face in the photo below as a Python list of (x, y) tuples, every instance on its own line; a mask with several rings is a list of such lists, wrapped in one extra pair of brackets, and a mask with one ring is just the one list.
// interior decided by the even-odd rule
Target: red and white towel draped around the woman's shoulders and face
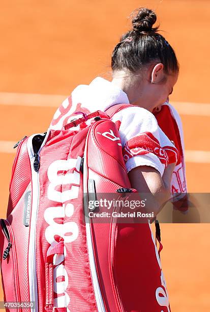
[[(79, 85), (73, 90), (55, 112), (50, 128), (64, 129), (64, 125), (72, 119), (81, 117), (74, 115), (77, 111), (86, 114), (97, 110), (106, 111), (119, 103), (129, 104), (126, 93), (113, 83), (97, 77), (91, 84)], [(121, 136), (128, 172), (137, 166), (147, 165), (156, 168), (162, 175), (165, 166), (176, 162), (171, 193), (187, 192), (182, 122), (171, 105), (163, 105), (155, 116), (137, 106), (127, 107), (114, 114), (112, 120)], [(74, 128), (77, 129), (79, 126)]]

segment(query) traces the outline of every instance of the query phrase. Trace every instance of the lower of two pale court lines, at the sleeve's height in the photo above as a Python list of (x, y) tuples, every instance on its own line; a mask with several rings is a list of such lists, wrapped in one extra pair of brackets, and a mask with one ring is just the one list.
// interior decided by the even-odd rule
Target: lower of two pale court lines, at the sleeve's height
[[(15, 141), (0, 141), (0, 152), (9, 154), (16, 153), (17, 148), (13, 148), (16, 143)], [(187, 163), (210, 164), (210, 151), (185, 150), (185, 161)]]

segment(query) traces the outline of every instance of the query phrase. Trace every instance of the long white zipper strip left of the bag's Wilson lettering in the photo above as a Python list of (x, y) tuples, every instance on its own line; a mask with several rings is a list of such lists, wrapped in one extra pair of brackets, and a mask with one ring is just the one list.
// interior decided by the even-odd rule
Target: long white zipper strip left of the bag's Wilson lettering
[[(34, 311), (38, 312), (38, 291), (37, 291), (37, 266), (36, 266), (36, 224), (37, 224), (37, 215), (39, 208), (39, 196), (40, 196), (40, 183), (39, 183), (39, 154), (45, 145), (50, 129), (47, 133), (35, 134), (28, 138), (27, 141), (27, 151), (28, 156), (31, 162), (32, 168), (32, 212), (30, 220), (30, 230), (29, 230), (29, 246), (28, 246), (28, 277), (29, 277), (29, 295), (30, 301), (35, 302)], [(45, 138), (38, 151), (35, 151), (33, 148), (33, 138), (37, 135), (45, 135)]]

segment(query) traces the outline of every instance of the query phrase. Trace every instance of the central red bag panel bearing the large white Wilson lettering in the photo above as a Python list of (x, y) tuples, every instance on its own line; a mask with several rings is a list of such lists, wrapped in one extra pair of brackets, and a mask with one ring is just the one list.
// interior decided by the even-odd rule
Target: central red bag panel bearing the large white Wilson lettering
[(59, 312), (97, 310), (81, 209), (79, 157), (83, 156), (86, 135), (85, 131), (76, 136), (69, 131), (51, 131), (40, 153), (36, 228), (40, 311), (51, 311), (53, 306)]

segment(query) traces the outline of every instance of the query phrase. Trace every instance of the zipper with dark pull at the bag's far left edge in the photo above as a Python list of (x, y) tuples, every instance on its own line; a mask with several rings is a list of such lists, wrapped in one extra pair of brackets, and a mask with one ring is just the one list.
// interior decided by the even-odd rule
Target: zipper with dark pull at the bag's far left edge
[[(13, 281), (13, 285), (14, 285), (14, 294), (15, 294), (15, 300), (16, 302), (20, 302), (20, 287), (19, 287), (19, 276), (18, 276), (18, 269), (17, 269), (17, 254), (16, 254), (16, 248), (15, 248), (15, 241), (14, 241), (14, 233), (12, 230), (12, 226), (9, 223), (9, 221), (7, 219), (1, 219), (1, 226), (2, 229), (4, 231), (5, 237), (8, 240), (8, 247), (5, 249), (4, 251), (4, 255), (3, 255), (3, 261), (10, 255), (10, 257), (12, 258), (12, 264), (13, 264), (13, 276), (14, 279)], [(10, 252), (11, 250), (11, 252)], [(21, 311), (21, 309), (19, 309), (17, 307), (17, 311)]]

